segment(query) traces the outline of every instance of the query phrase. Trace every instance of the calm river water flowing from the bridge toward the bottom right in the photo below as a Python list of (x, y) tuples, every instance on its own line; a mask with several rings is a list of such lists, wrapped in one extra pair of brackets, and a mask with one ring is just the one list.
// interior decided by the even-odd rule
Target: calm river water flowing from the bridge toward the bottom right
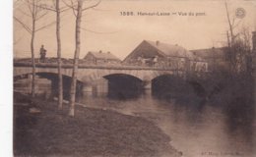
[(256, 119), (251, 108), (178, 104), (151, 94), (127, 99), (84, 95), (79, 102), (153, 121), (184, 157), (256, 156)]

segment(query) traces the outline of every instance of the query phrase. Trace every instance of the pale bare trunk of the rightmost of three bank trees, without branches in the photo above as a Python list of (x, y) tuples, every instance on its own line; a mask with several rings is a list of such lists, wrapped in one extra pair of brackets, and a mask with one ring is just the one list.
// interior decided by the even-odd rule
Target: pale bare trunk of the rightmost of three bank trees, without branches
[(76, 86), (77, 86), (77, 71), (78, 71), (78, 61), (80, 55), (80, 26), (82, 19), (82, 7), (83, 0), (78, 0), (77, 6), (77, 16), (76, 16), (76, 50), (74, 54), (74, 66), (73, 66), (73, 74), (71, 81), (71, 89), (70, 89), (70, 110), (69, 116), (75, 116), (75, 101), (76, 101)]

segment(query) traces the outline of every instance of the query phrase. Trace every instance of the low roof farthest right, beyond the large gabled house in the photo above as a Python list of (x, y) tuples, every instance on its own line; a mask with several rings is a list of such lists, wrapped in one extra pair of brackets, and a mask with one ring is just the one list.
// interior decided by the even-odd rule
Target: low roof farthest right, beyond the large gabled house
[(197, 49), (197, 50), (190, 50), (194, 53), (195, 56), (201, 57), (204, 59), (209, 58), (225, 58), (225, 49), (226, 47), (219, 47), (219, 48), (208, 48), (208, 49)]

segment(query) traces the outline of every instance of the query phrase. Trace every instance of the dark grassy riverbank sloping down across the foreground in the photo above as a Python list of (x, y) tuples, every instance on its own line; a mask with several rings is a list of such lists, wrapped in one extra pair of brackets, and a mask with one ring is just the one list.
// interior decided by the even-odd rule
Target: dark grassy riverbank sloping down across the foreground
[(152, 122), (113, 111), (68, 106), (15, 93), (15, 156), (178, 157)]

